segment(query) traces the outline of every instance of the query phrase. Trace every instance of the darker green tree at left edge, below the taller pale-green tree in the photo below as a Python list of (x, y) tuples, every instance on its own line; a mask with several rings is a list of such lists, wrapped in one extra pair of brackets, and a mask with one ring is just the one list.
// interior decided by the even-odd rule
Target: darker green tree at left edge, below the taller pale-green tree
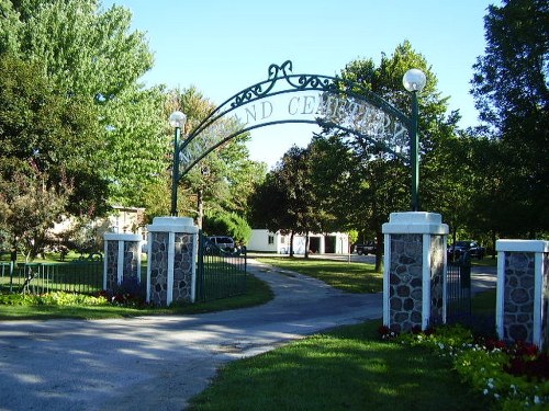
[(97, 112), (85, 96), (66, 98), (36, 64), (0, 56), (0, 173), (11, 181), (30, 164), (47, 186), (71, 181), (67, 210), (101, 212), (107, 181), (93, 157)]

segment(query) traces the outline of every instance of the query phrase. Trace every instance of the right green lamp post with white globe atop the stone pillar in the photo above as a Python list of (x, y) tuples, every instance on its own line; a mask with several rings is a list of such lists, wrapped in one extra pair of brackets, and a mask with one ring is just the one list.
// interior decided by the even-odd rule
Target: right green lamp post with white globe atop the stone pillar
[(423, 90), (427, 79), (418, 69), (410, 69), (402, 78), (404, 88), (412, 93), (412, 117), (410, 124), (410, 164), (412, 168), (412, 210), (419, 210), (419, 150), (417, 141), (417, 117), (419, 113), (417, 93)]

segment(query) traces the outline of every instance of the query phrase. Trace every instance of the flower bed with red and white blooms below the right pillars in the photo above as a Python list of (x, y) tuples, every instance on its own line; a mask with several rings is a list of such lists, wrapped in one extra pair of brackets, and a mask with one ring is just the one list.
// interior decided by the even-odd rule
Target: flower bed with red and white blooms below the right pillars
[(428, 346), (437, 355), (449, 357), (461, 378), (490, 396), (498, 409), (549, 408), (549, 357), (535, 345), (475, 338), (459, 324), (400, 335), (383, 326), (379, 332), (382, 339)]

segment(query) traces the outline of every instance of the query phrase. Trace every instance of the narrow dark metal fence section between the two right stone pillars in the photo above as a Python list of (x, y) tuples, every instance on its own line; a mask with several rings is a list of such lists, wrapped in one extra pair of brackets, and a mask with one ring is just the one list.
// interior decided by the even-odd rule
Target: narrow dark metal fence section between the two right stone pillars
[(447, 321), (459, 321), (471, 316), (471, 261), (448, 261), (447, 267)]

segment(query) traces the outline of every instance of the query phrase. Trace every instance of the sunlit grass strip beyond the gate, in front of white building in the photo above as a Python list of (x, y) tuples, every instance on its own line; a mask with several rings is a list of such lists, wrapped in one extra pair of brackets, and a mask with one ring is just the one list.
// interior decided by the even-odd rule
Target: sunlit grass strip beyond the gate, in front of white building
[(343, 261), (309, 260), (302, 258), (258, 258), (259, 262), (282, 269), (278, 273), (291, 275), (298, 272), (322, 279), (347, 293), (381, 293), (383, 274), (376, 273), (373, 264), (347, 263)]

